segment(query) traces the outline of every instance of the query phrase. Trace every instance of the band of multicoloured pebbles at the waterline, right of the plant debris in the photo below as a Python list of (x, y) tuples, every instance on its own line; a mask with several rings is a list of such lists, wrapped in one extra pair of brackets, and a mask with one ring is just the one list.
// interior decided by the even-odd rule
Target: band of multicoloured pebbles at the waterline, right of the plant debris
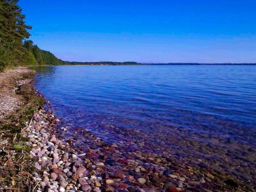
[[(24, 85), (29, 85), (35, 92), (31, 81), (25, 82)], [(251, 191), (233, 178), (226, 179), (229, 185), (220, 182), (211, 167), (203, 162), (201, 167), (196, 164), (191, 167), (185, 159), (168, 154), (159, 156), (126, 152), (121, 146), (108, 146), (97, 135), (81, 129), (77, 129), (77, 135), (85, 136), (88, 141), (83, 149), (78, 148), (72, 145), (72, 139), (62, 138), (62, 133), (69, 130), (65, 126), (58, 128), (61, 120), (55, 117), (54, 112), (46, 110), (48, 107), (40, 107), (42, 109), (33, 110), (33, 118), (29, 118), (22, 128), (21, 140), (24, 141), (21, 149), (14, 149), (14, 152), (23, 151), (25, 146), (31, 149), (27, 150), (27, 153), (29, 152), (30, 158), (33, 159), (35, 168), (35, 171), (30, 172), (29, 186), (32, 189), (50, 192), (143, 192), (238, 191), (240, 187), (242, 191)], [(0, 188), (4, 182), (1, 181)], [(14, 188), (15, 185), (11, 184), (8, 188), (11, 187)]]

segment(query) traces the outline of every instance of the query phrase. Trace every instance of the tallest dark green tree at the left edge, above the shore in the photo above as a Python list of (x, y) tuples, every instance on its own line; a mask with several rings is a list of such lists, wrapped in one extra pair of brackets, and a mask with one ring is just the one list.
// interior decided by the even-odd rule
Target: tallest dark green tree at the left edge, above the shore
[(19, 64), (26, 51), (22, 40), (30, 37), (32, 27), (25, 25), (25, 15), (17, 5), (18, 0), (0, 0), (0, 71)]

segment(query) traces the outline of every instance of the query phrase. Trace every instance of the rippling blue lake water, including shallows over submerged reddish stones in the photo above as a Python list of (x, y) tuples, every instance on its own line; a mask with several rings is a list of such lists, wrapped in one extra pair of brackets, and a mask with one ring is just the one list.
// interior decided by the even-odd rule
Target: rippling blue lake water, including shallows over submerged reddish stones
[(244, 165), (235, 175), (255, 166), (256, 66), (34, 69), (37, 89), (71, 131), (129, 149)]

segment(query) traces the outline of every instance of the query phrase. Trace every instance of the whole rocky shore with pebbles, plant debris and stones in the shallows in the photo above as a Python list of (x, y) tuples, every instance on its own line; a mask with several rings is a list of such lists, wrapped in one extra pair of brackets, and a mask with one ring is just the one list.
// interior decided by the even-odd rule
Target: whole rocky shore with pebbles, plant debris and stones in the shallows
[[(33, 88), (33, 83), (31, 78), (21, 76), (31, 71), (21, 71), (12, 77), (15, 83), (6, 89), (11, 92), (0, 97), (2, 121), (27, 106), (29, 99), (22, 96), (22, 86)], [(5, 88), (4, 84), (1, 86)], [(33, 92), (40, 98), (34, 89)], [(13, 97), (8, 100), (3, 95)], [(48, 102), (30, 107), (31, 113), (26, 111), (28, 118), (21, 123), (19, 133), (8, 135), (5, 133), (12, 130), (0, 127), (4, 133), (0, 142), (0, 191), (254, 191), (253, 186), (217, 173), (201, 159), (188, 161), (169, 153), (159, 155), (106, 144), (85, 129), (71, 132), (50, 110)], [(66, 133), (73, 136), (66, 138)], [(83, 146), (75, 146), (74, 141), (80, 138), (84, 139)], [(13, 173), (7, 173), (13, 166)]]

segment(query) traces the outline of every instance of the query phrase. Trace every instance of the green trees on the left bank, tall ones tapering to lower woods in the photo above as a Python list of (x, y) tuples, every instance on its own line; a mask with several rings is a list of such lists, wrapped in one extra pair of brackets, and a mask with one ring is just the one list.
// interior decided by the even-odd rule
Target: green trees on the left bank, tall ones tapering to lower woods
[(18, 65), (62, 65), (49, 51), (28, 40), (31, 30), (18, 0), (0, 0), (0, 71)]

